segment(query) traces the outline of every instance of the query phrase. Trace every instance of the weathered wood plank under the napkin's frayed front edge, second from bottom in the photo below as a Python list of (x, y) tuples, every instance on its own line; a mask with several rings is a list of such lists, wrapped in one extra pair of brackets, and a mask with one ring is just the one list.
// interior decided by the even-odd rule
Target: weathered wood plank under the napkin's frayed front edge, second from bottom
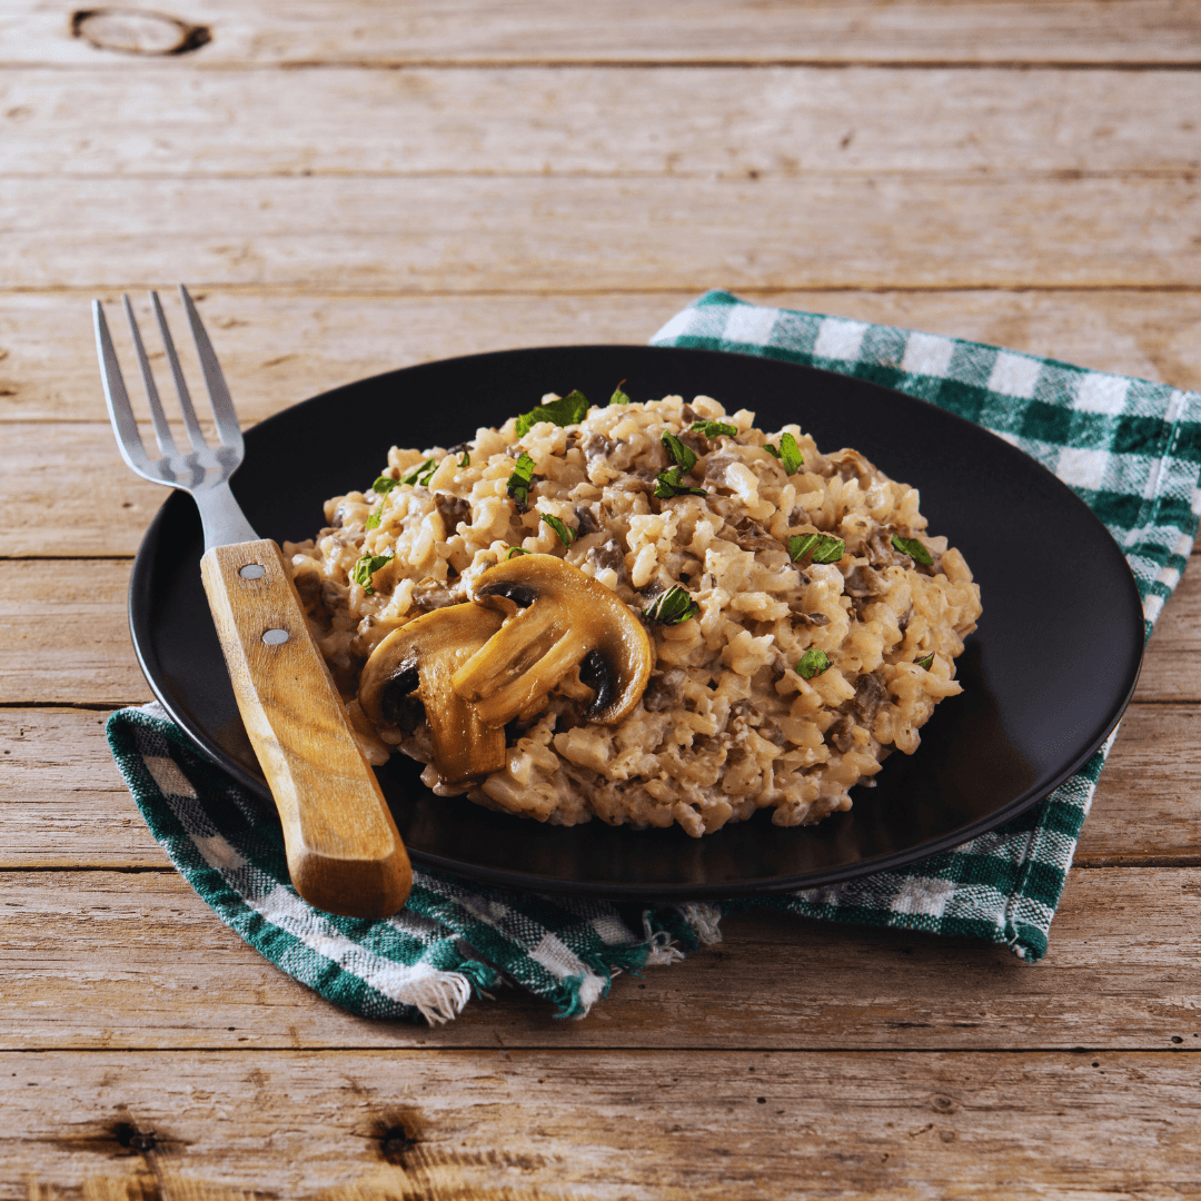
[(1197, 868), (1075, 870), (1038, 966), (967, 939), (734, 916), (719, 948), (619, 976), (580, 1022), (506, 988), (434, 1029), (321, 1000), (169, 872), (6, 873), (4, 888), (5, 1050), (1201, 1044)]

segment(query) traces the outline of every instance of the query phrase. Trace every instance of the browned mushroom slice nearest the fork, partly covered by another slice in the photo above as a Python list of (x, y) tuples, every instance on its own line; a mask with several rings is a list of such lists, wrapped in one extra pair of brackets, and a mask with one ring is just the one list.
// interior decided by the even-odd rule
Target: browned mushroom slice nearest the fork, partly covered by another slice
[(504, 731), (488, 725), (458, 697), (450, 676), (501, 627), (503, 615), (476, 604), (435, 609), (393, 631), (372, 652), (359, 681), (359, 704), (376, 725), (398, 725), (410, 694), (425, 706), (434, 766), (446, 784), (504, 766)]

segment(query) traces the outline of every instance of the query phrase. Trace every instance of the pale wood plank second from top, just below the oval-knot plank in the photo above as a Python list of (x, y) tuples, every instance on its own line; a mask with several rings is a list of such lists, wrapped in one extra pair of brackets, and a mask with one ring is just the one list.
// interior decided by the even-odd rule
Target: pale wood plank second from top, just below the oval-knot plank
[(1196, 169), (1199, 110), (1201, 74), (1161, 71), (26, 70), (0, 173), (1163, 174)]

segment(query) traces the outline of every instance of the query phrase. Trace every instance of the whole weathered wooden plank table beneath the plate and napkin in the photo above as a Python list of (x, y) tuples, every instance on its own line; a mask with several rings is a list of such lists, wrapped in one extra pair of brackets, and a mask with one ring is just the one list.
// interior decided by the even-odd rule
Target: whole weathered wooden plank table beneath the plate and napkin
[[(724, 286), (1201, 384), (1201, 11), (1170, 0), (191, 0), (0, 11), (0, 1199), (1201, 1191), (1201, 582), (1051, 952), (769, 919), (580, 1022), (349, 1017), (172, 871), (102, 729), (162, 501), (88, 301), (183, 279), (253, 420)], [(89, 41), (89, 37), (91, 41)], [(191, 41), (203, 38), (192, 31)]]

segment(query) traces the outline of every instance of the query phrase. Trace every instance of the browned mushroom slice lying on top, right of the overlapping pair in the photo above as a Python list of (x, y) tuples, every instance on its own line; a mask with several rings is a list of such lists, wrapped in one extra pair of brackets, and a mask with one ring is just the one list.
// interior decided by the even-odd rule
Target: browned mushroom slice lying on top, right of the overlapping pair
[(596, 698), (585, 716), (620, 722), (655, 665), (651, 640), (629, 607), (554, 555), (522, 555), (479, 576), (473, 599), (509, 614), (501, 631), (454, 674), (454, 691), (480, 719), (503, 725), (576, 664)]

